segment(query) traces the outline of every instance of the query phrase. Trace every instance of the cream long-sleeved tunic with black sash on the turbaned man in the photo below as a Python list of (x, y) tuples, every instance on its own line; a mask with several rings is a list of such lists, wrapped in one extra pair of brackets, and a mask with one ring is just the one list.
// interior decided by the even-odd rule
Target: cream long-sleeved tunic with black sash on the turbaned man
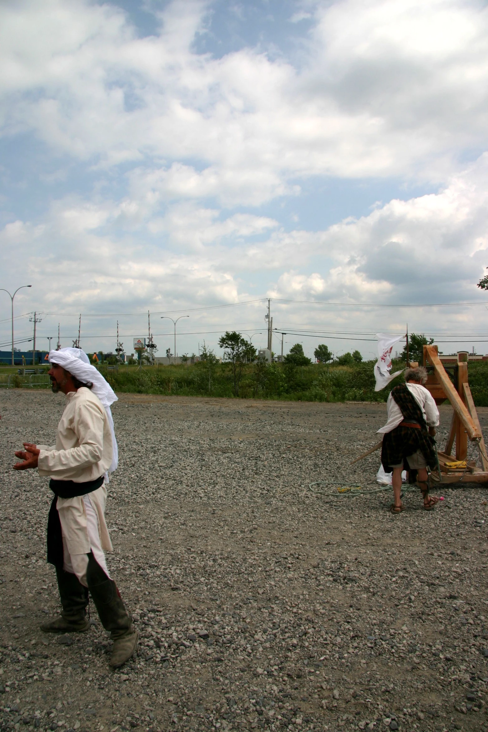
[[(66, 400), (56, 433), (56, 445), (37, 445), (40, 449), (39, 474), (54, 480), (85, 483), (100, 478), (110, 468), (112, 433), (105, 407), (90, 389), (81, 386), (78, 391), (69, 392)], [(112, 543), (105, 523), (106, 500), (105, 485), (90, 493), (91, 505), (97, 512), (102, 549), (111, 551)], [(83, 496), (59, 497), (56, 507), (70, 555), (88, 554), (91, 542)]]

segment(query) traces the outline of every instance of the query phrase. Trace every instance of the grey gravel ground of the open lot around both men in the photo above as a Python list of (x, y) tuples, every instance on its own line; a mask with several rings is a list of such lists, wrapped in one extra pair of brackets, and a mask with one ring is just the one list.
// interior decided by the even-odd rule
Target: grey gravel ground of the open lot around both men
[[(108, 566), (140, 631), (116, 672), (96, 613), (53, 637), (48, 482), (11, 470), (52, 443), (61, 395), (0, 393), (0, 728), (487, 730), (486, 488), (375, 488), (386, 407), (121, 395)], [(481, 424), (488, 410), (480, 409)], [(450, 408), (441, 408), (440, 441)], [(486, 654), (486, 656), (485, 656)]]

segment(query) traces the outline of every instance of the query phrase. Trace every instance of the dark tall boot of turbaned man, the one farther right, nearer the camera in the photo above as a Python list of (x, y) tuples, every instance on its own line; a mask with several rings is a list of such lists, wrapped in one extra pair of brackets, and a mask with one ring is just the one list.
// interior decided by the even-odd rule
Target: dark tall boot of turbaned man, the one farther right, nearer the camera
[(116, 583), (107, 577), (91, 552), (88, 555), (86, 582), (100, 621), (105, 630), (110, 630), (113, 640), (110, 666), (119, 668), (134, 653), (139, 634), (132, 627), (132, 619), (127, 615)]

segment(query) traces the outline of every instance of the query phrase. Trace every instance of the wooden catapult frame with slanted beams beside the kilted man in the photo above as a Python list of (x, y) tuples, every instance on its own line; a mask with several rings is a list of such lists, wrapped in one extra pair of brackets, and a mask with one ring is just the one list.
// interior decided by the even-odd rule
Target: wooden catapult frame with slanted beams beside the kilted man
[[(468, 354), (461, 352), (457, 354), (457, 362), (444, 365), (438, 356), (437, 346), (424, 346), (424, 366), (429, 371), (425, 386), (434, 397), (435, 403), (442, 404), (447, 399), (453, 408), (446, 447), (443, 452), (438, 451), (440, 482), (488, 482), (487, 449), (468, 384)], [(454, 384), (446, 368), (454, 370)], [(468, 439), (478, 443), (481, 468), (474, 461), (468, 461)], [(454, 443), (456, 450), (452, 455)], [(466, 468), (449, 468), (446, 465), (457, 460), (466, 460)], [(432, 478), (435, 477), (432, 474)]]

